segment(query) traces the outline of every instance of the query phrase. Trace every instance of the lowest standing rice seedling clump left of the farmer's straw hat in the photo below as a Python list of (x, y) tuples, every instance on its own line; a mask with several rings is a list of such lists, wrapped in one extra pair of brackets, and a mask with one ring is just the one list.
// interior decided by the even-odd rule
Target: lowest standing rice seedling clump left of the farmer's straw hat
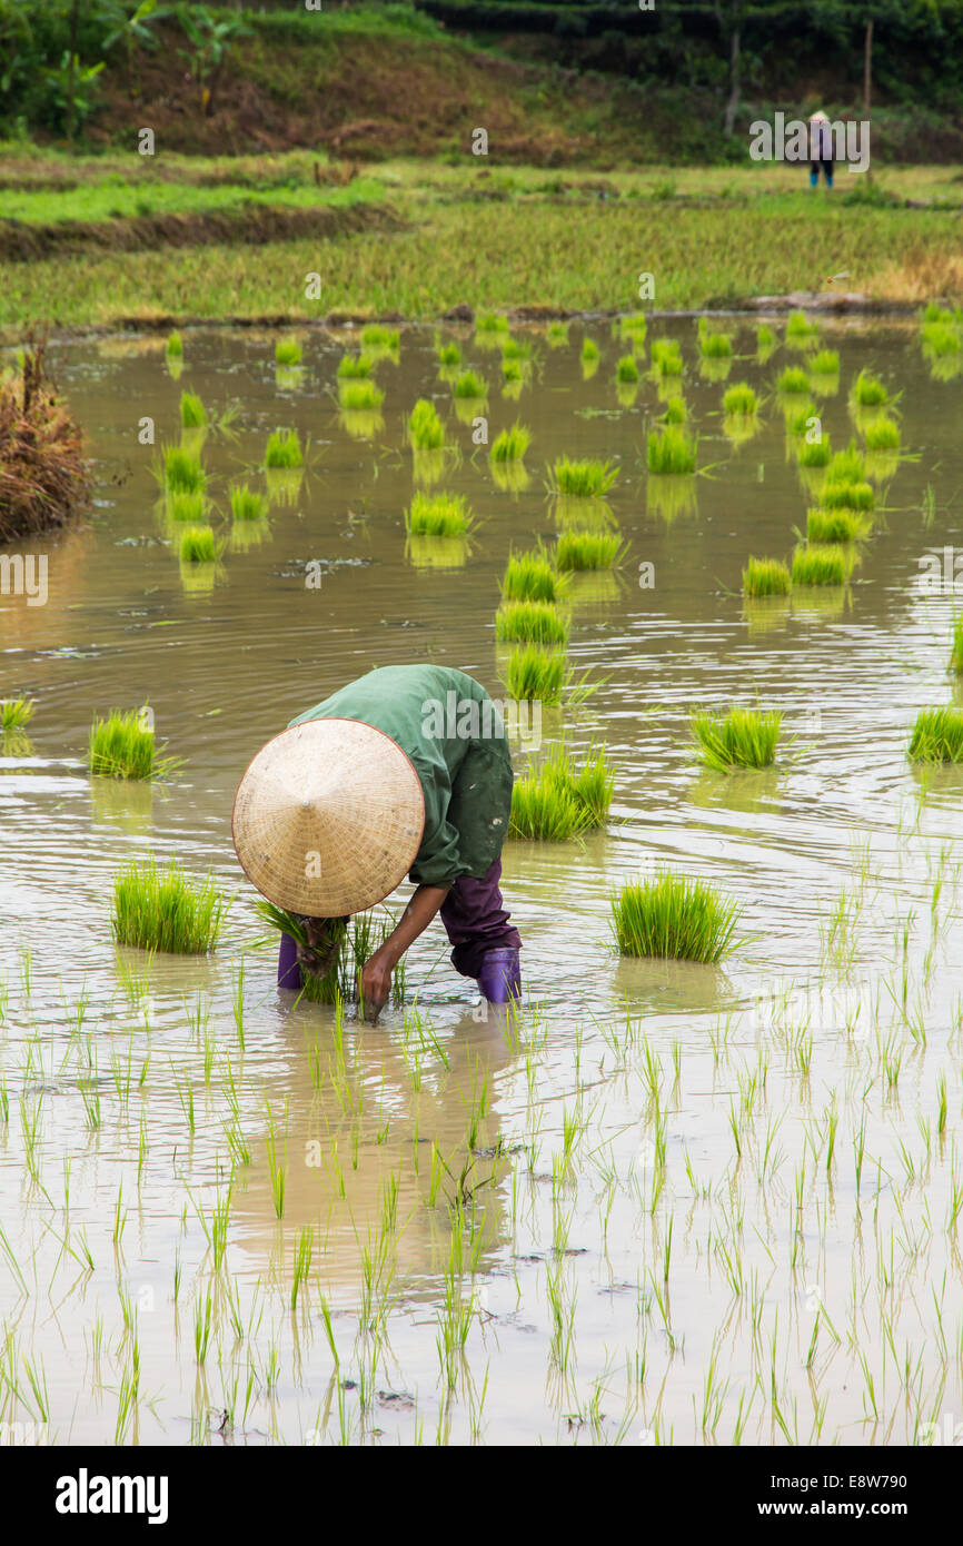
[(176, 955), (206, 955), (218, 942), (227, 903), (209, 877), (196, 881), (172, 860), (131, 863), (114, 878), (117, 945)]

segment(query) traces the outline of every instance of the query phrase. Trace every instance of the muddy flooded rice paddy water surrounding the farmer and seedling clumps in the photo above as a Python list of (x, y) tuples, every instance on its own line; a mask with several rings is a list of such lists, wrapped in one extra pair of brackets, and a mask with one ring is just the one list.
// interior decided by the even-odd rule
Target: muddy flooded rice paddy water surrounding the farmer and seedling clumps
[[(765, 399), (745, 441), (694, 318), (649, 322), (685, 360), (706, 468), (685, 496), (646, 475), (663, 404), (648, 349), (637, 391), (617, 388), (607, 323), (561, 348), (518, 328), (516, 400), (498, 354), (448, 329), (490, 382), (464, 419), (430, 329), (402, 329), (360, 421), (337, 407), (348, 331), (306, 332), (295, 374), (267, 332), (189, 331), (179, 380), (156, 339), (54, 351), (97, 489), (91, 521), (32, 544), (46, 603), (0, 598), (0, 696), (37, 702), (0, 762), (8, 1441), (934, 1442), (963, 1411), (963, 775), (906, 758), (918, 708), (958, 700), (960, 382), (931, 376), (915, 323), (824, 326), (833, 448), (866, 366), (903, 394), (904, 455), (878, 468), (852, 584), (753, 606), (747, 557), (788, 558), (813, 502), (773, 396), (801, 356), (782, 323), (767, 362), (745, 318), (727, 326), (728, 380)], [(179, 564), (150, 472), (182, 388), (213, 419), (236, 405), (202, 451), (221, 507), (230, 479), (264, 487), (272, 430), (308, 445), (246, 541), (215, 521), (213, 569)], [(405, 535), (419, 396), (456, 447), (434, 487), (471, 506), (467, 546)], [(492, 439), (532, 430), (526, 489), (493, 479), (479, 411)], [(512, 1023), (436, 925), (405, 1008), (335, 1025), (274, 985), (230, 844), (236, 781), (373, 666), (433, 659), (504, 696), (499, 578), (564, 524), (546, 489), (564, 453), (617, 459), (606, 519), (628, 550), (575, 577), (569, 659), (597, 688), (544, 708), (541, 745), (606, 742), (609, 826), (505, 847)], [(700, 770), (691, 710), (756, 700), (785, 714), (776, 767)], [(91, 781), (94, 713), (142, 703), (179, 775)], [(148, 853), (235, 897), (210, 959), (113, 946), (113, 875)], [(740, 903), (723, 966), (615, 955), (609, 892), (658, 863)]]

